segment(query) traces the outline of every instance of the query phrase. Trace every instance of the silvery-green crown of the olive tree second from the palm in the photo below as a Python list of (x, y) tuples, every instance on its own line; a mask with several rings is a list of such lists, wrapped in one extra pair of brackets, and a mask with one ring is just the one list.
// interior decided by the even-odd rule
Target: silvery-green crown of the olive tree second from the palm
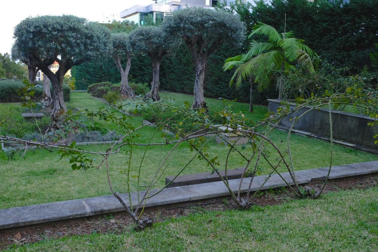
[(161, 26), (139, 26), (130, 33), (133, 50), (146, 53), (151, 58), (164, 56), (179, 43), (180, 40), (167, 34)]

